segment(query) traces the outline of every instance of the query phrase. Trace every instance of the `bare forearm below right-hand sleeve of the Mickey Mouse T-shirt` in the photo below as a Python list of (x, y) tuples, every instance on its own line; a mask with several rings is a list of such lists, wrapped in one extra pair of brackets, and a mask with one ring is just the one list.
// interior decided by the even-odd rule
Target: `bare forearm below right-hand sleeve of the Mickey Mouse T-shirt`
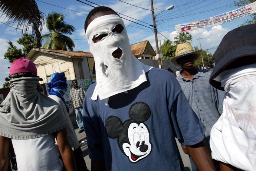
[(216, 171), (216, 167), (213, 159), (211, 158), (210, 152), (203, 141), (195, 145), (185, 147), (187, 153), (184, 151), (184, 149), (183, 151), (190, 155), (198, 171)]

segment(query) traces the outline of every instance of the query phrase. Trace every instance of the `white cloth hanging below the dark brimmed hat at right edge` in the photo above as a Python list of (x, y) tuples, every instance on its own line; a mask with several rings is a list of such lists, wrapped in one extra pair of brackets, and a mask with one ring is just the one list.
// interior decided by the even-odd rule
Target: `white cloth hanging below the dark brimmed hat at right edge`
[(223, 113), (211, 129), (211, 156), (245, 171), (256, 170), (256, 64), (226, 70)]

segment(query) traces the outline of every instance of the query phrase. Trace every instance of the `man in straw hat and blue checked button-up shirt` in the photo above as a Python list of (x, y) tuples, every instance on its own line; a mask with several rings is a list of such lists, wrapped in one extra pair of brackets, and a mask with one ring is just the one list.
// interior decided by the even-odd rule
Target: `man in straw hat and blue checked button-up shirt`
[[(202, 50), (194, 51), (190, 43), (177, 45), (175, 57), (171, 62), (181, 66), (180, 75), (176, 77), (197, 117), (206, 127), (205, 143), (210, 150), (210, 131), (219, 119), (223, 108), (224, 91), (217, 90), (209, 84), (211, 71), (194, 67), (195, 60), (201, 56)], [(186, 147), (183, 146), (186, 153)], [(192, 171), (196, 166), (191, 160)]]

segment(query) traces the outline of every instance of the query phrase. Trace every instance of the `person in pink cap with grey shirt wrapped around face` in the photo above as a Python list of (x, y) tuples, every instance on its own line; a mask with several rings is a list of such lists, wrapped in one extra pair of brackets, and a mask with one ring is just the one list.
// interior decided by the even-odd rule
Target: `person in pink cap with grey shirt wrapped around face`
[(7, 170), (12, 141), (19, 171), (62, 171), (55, 138), (66, 170), (76, 170), (63, 110), (40, 93), (36, 65), (20, 58), (12, 63), (10, 77), (10, 93), (0, 105), (0, 170)]

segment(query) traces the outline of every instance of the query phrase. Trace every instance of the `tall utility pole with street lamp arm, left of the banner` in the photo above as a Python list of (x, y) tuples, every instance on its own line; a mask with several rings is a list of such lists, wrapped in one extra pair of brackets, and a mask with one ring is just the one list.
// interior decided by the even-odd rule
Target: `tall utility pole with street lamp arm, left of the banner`
[[(174, 8), (173, 5), (167, 7), (166, 9), (164, 9), (163, 11), (166, 11), (166, 10), (172, 10)], [(162, 13), (163, 11), (161, 11), (160, 13)], [(162, 68), (162, 65), (161, 65), (161, 59), (160, 59), (160, 54), (159, 54), (159, 47), (158, 47), (158, 39), (157, 39), (157, 26), (155, 24), (155, 17), (158, 16), (160, 13), (158, 13), (156, 16), (155, 16), (155, 13), (154, 13), (154, 5), (153, 5), (153, 0), (151, 0), (151, 13), (152, 13), (152, 19), (153, 19), (153, 27), (154, 27), (154, 33), (155, 33), (155, 47), (157, 49), (157, 57), (158, 58), (158, 65), (159, 65), (159, 68)]]

